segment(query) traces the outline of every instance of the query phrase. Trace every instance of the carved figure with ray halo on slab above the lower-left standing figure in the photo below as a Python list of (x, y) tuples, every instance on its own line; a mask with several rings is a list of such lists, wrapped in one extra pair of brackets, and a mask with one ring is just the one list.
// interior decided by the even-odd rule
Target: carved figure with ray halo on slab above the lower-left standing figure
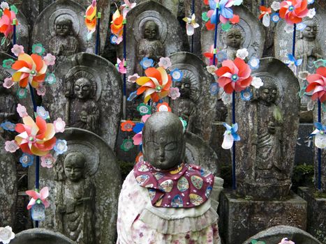
[(66, 96), (70, 102), (67, 103), (66, 116), (69, 118), (69, 126), (97, 134), (100, 112), (93, 99), (94, 90), (92, 83), (86, 77), (80, 77), (74, 84), (67, 82)]

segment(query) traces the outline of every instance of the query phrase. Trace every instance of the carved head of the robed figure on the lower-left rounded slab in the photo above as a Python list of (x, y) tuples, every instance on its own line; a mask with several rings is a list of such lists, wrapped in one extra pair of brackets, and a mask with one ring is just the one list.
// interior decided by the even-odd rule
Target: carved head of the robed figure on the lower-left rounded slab
[(85, 168), (84, 155), (82, 153), (69, 153), (64, 160), (64, 173), (73, 182), (80, 181), (84, 175)]

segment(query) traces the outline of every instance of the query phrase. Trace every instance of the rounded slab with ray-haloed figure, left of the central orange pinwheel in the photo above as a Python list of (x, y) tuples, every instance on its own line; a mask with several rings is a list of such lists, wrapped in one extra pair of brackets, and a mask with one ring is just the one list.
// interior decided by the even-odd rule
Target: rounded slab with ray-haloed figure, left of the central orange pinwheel
[(55, 74), (57, 82), (43, 98), (52, 118), (95, 132), (114, 148), (122, 100), (117, 69), (101, 56), (79, 53), (61, 63)]

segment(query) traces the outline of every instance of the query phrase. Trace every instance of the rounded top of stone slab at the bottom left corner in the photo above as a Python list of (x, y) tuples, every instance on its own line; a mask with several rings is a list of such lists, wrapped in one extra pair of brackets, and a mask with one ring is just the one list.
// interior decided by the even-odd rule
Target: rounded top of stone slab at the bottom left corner
[(28, 229), (16, 234), (13, 244), (76, 244), (75, 242), (66, 238), (66, 236), (57, 232), (49, 231), (47, 229)]

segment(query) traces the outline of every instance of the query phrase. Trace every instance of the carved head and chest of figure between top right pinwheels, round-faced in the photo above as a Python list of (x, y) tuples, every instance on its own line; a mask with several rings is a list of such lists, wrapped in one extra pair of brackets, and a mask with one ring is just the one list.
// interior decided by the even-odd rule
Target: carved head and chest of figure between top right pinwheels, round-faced
[(223, 33), (223, 43), (224, 49), (222, 51), (227, 54), (228, 59), (233, 60), (237, 57), (237, 50), (240, 49), (244, 43), (244, 37), (239, 29), (232, 28)]

